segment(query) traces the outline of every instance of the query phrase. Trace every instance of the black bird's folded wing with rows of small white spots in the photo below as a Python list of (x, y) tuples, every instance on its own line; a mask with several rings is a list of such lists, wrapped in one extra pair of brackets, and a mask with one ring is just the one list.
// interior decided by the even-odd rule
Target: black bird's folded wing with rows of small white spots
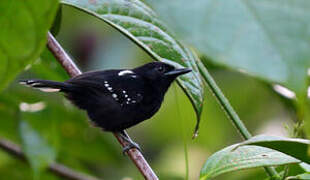
[(79, 92), (104, 100), (112, 97), (120, 105), (137, 104), (143, 99), (144, 81), (136, 74), (119, 75), (124, 70), (86, 72), (66, 81)]

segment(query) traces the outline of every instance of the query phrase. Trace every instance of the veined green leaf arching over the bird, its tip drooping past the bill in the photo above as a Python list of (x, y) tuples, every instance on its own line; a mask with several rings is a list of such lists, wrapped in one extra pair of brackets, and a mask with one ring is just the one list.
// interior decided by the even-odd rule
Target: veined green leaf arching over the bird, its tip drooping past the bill
[(196, 65), (198, 59), (168, 32), (149, 7), (138, 0), (63, 0), (62, 3), (103, 20), (140, 46), (154, 60), (191, 68), (193, 72), (179, 77), (178, 83), (189, 96), (199, 119), (204, 88)]

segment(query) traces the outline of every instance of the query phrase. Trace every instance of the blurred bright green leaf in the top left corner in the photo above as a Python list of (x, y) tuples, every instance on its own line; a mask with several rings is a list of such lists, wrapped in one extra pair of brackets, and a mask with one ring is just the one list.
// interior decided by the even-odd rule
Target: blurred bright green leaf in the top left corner
[(57, 0), (0, 1), (0, 91), (39, 57)]

